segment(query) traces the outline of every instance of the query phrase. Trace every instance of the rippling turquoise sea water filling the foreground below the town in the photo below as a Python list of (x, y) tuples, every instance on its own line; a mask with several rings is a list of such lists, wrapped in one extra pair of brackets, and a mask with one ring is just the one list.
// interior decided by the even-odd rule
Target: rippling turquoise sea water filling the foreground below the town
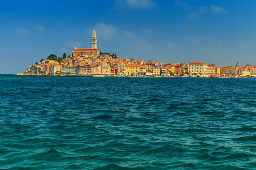
[(0, 76), (0, 169), (256, 169), (256, 79)]

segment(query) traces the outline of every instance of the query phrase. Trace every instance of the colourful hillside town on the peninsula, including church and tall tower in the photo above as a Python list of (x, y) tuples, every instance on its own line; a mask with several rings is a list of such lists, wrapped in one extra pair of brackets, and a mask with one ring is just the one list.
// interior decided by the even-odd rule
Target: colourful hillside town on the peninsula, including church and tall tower
[(256, 65), (226, 65), (187, 62), (170, 63), (123, 58), (112, 53), (102, 53), (97, 48), (96, 30), (93, 29), (91, 48), (73, 48), (67, 57), (50, 54), (47, 59), (29, 66), (16, 75), (90, 76), (90, 77), (254, 77)]

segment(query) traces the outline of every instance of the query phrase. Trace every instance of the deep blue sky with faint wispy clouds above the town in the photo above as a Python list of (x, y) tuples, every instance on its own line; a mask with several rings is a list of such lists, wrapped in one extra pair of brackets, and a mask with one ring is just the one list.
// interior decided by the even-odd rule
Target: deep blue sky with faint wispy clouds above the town
[(163, 62), (256, 64), (256, 0), (9, 0), (0, 10), (0, 73), (91, 48)]

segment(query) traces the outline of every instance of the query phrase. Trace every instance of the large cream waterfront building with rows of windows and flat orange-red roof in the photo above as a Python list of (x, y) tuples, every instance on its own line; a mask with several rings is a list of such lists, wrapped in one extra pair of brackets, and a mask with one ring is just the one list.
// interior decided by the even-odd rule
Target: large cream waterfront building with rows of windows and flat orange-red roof
[(207, 63), (206, 62), (188, 62), (188, 73), (207, 75)]

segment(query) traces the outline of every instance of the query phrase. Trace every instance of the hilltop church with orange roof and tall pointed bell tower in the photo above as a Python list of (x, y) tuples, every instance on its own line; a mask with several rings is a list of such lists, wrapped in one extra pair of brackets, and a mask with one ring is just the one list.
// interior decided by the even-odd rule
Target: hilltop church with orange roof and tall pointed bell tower
[(97, 56), (99, 55), (99, 49), (97, 48), (97, 36), (95, 28), (93, 29), (92, 36), (92, 48), (74, 48), (73, 51), (70, 52), (70, 56)]

